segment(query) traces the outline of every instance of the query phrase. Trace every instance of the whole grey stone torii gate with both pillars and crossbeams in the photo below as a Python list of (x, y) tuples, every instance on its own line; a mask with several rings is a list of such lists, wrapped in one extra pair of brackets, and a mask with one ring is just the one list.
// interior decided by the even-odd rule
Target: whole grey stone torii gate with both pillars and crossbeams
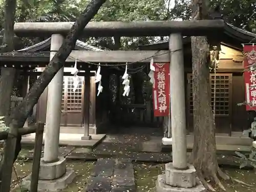
[[(17, 36), (52, 36), (51, 57), (60, 48), (73, 23), (16, 23)], [(186, 158), (186, 116), (185, 84), (182, 36), (220, 35), (224, 29), (223, 20), (186, 20), (150, 22), (90, 22), (84, 28), (87, 37), (113, 36), (169, 36), (169, 51), (72, 51), (66, 62), (74, 58), (84, 62), (125, 63), (170, 62), (170, 106), (172, 110), (173, 162), (165, 166), (165, 175), (160, 175), (156, 183), (157, 192), (162, 191), (205, 191), (196, 182), (196, 170), (187, 164)], [(164, 54), (166, 53), (166, 54)], [(162, 54), (162, 55), (160, 55)], [(149, 59), (145, 59), (149, 58)], [(84, 63), (84, 65), (87, 65)], [(66, 169), (66, 160), (58, 157), (60, 128), (61, 89), (63, 68), (55, 75), (48, 86), (46, 138), (44, 157), (40, 164), (38, 189), (56, 191), (65, 187), (74, 178), (74, 172)], [(25, 179), (29, 182), (29, 178)], [(178, 187), (178, 188), (177, 188)], [(183, 188), (183, 189), (182, 189)]]

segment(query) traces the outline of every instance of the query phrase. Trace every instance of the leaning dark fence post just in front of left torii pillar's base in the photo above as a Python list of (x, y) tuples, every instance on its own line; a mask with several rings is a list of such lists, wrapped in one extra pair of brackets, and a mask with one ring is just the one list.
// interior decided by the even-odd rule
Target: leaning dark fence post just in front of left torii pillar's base
[(33, 154), (33, 165), (31, 173), (30, 191), (37, 192), (38, 176), (42, 151), (42, 136), (44, 135), (45, 123), (38, 123), (35, 133), (35, 145)]

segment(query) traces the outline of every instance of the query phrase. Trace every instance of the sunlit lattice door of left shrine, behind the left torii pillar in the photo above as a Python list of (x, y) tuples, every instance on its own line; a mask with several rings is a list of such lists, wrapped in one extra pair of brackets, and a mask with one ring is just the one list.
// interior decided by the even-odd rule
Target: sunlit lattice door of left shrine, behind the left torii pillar
[(83, 77), (79, 77), (77, 89), (73, 91), (73, 77), (65, 76), (63, 78), (61, 102), (62, 126), (82, 126), (83, 80)]

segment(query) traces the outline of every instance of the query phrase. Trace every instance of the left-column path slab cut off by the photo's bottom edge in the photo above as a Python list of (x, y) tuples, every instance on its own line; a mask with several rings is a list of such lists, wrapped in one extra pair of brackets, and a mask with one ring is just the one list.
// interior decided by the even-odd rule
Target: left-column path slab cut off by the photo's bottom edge
[(110, 192), (111, 179), (108, 177), (90, 177), (84, 192)]

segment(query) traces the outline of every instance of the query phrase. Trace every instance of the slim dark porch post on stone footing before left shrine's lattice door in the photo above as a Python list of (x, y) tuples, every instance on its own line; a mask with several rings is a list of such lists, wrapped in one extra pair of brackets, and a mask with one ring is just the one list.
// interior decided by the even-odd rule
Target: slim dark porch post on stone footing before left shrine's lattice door
[(86, 70), (86, 75), (84, 76), (84, 91), (83, 91), (83, 129), (84, 135), (82, 136), (82, 140), (90, 140), (92, 137), (89, 135), (90, 129), (90, 87), (91, 87), (91, 77), (90, 70)]

